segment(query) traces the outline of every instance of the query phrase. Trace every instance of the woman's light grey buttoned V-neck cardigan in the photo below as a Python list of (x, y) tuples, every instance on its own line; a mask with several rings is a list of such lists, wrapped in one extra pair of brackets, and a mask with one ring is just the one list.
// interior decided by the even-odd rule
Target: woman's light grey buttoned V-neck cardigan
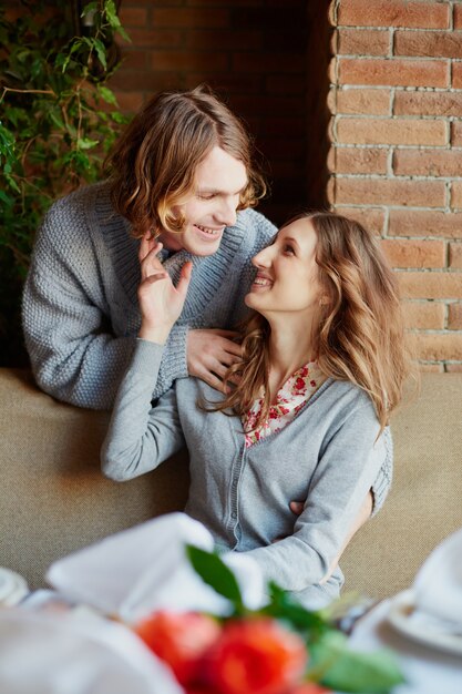
[[(138, 339), (122, 380), (102, 448), (107, 477), (129, 480), (186, 446), (191, 487), (186, 513), (222, 550), (246, 552), (267, 580), (310, 606), (339, 594), (338, 557), (370, 487), (383, 500), (392, 445), (370, 398), (349, 382), (327, 379), (278, 433), (244, 446), (239, 418), (205, 412), (197, 398), (222, 396), (196, 378), (179, 379), (151, 407), (163, 347)], [(296, 518), (289, 501), (304, 499)], [(279, 538), (283, 540), (276, 541)]]

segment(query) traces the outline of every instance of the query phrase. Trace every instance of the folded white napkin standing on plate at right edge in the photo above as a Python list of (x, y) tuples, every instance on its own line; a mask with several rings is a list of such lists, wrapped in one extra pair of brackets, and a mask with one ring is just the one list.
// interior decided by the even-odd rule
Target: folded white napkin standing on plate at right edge
[(428, 557), (413, 583), (418, 613), (448, 621), (462, 634), (462, 528)]

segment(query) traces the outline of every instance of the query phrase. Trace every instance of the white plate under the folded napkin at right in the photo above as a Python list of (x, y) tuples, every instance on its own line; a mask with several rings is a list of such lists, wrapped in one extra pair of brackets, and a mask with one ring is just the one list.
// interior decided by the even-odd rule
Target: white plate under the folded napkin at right
[(403, 636), (439, 651), (462, 655), (462, 634), (443, 633), (443, 630), (435, 627), (437, 621), (433, 621), (431, 626), (429, 624), (423, 626), (417, 616), (412, 590), (402, 591), (391, 600), (388, 621)]

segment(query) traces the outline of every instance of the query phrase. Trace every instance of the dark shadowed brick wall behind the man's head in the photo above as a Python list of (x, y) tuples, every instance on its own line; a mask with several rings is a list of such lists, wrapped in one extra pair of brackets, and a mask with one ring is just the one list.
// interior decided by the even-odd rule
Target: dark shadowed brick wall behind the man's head
[(112, 80), (135, 111), (154, 92), (209, 83), (263, 153), (280, 224), (325, 203), (330, 0), (122, 0), (133, 43)]

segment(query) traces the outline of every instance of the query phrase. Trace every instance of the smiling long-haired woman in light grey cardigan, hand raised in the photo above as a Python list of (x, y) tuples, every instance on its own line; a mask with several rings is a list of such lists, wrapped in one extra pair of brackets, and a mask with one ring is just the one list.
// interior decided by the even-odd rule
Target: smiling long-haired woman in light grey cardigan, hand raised
[[(296, 218), (253, 259), (254, 313), (227, 392), (179, 379), (151, 408), (191, 277), (186, 264), (174, 288), (156, 258), (161, 247), (144, 238), (142, 327), (103, 471), (127, 480), (186, 445), (186, 513), (218, 549), (247, 552), (267, 580), (318, 606), (339, 594), (337, 559), (369, 489), (380, 494), (389, 482), (388, 420), (407, 370), (393, 274), (358, 223), (330, 213)], [(290, 499), (305, 499), (298, 518)]]

